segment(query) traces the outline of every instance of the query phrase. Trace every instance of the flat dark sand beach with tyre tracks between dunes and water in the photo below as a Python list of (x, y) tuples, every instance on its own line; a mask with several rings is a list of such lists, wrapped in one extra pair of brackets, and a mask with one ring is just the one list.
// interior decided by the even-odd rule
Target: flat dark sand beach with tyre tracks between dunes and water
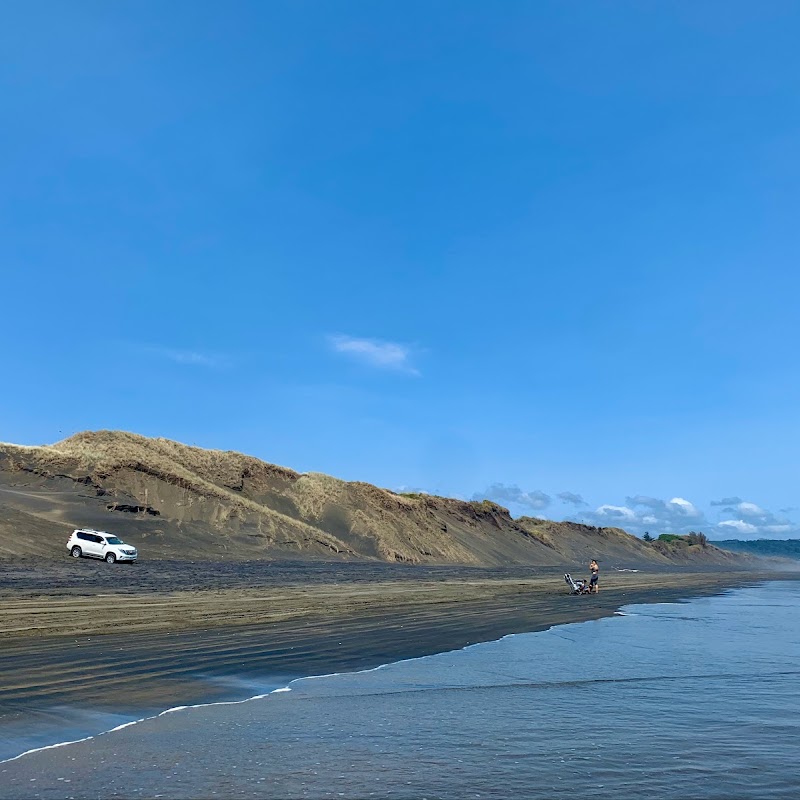
[(573, 597), (559, 568), (6, 562), (0, 758), (22, 752), (23, 742), (63, 740), (56, 734), (70, 728), (75, 709), (134, 718), (238, 699), (304, 675), (365, 669), (608, 616), (628, 603), (774, 577), (611, 572), (598, 595)]

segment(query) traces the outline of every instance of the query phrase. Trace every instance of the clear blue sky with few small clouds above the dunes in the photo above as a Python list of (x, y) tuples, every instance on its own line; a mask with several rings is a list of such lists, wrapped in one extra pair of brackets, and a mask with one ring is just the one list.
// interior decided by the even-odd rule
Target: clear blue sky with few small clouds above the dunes
[(0, 15), (0, 439), (800, 536), (796, 3)]

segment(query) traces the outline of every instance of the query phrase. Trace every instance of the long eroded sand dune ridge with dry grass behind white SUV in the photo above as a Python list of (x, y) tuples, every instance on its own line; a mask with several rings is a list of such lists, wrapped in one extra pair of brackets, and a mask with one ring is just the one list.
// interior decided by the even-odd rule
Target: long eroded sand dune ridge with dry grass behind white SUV
[[(119, 532), (156, 558), (672, 563), (615, 528), (514, 520), (486, 501), (396, 494), (167, 439), (99, 431), (0, 445), (0, 557), (61, 555), (64, 533), (78, 526)], [(694, 557), (729, 556), (707, 548)]]

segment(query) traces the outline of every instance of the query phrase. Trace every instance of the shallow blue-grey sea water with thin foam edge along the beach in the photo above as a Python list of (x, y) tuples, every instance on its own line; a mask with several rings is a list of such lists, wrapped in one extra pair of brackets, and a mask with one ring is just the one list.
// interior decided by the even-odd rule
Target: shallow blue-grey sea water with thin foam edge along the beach
[(781, 581), (301, 679), (7, 761), (0, 797), (795, 798), (799, 611)]

